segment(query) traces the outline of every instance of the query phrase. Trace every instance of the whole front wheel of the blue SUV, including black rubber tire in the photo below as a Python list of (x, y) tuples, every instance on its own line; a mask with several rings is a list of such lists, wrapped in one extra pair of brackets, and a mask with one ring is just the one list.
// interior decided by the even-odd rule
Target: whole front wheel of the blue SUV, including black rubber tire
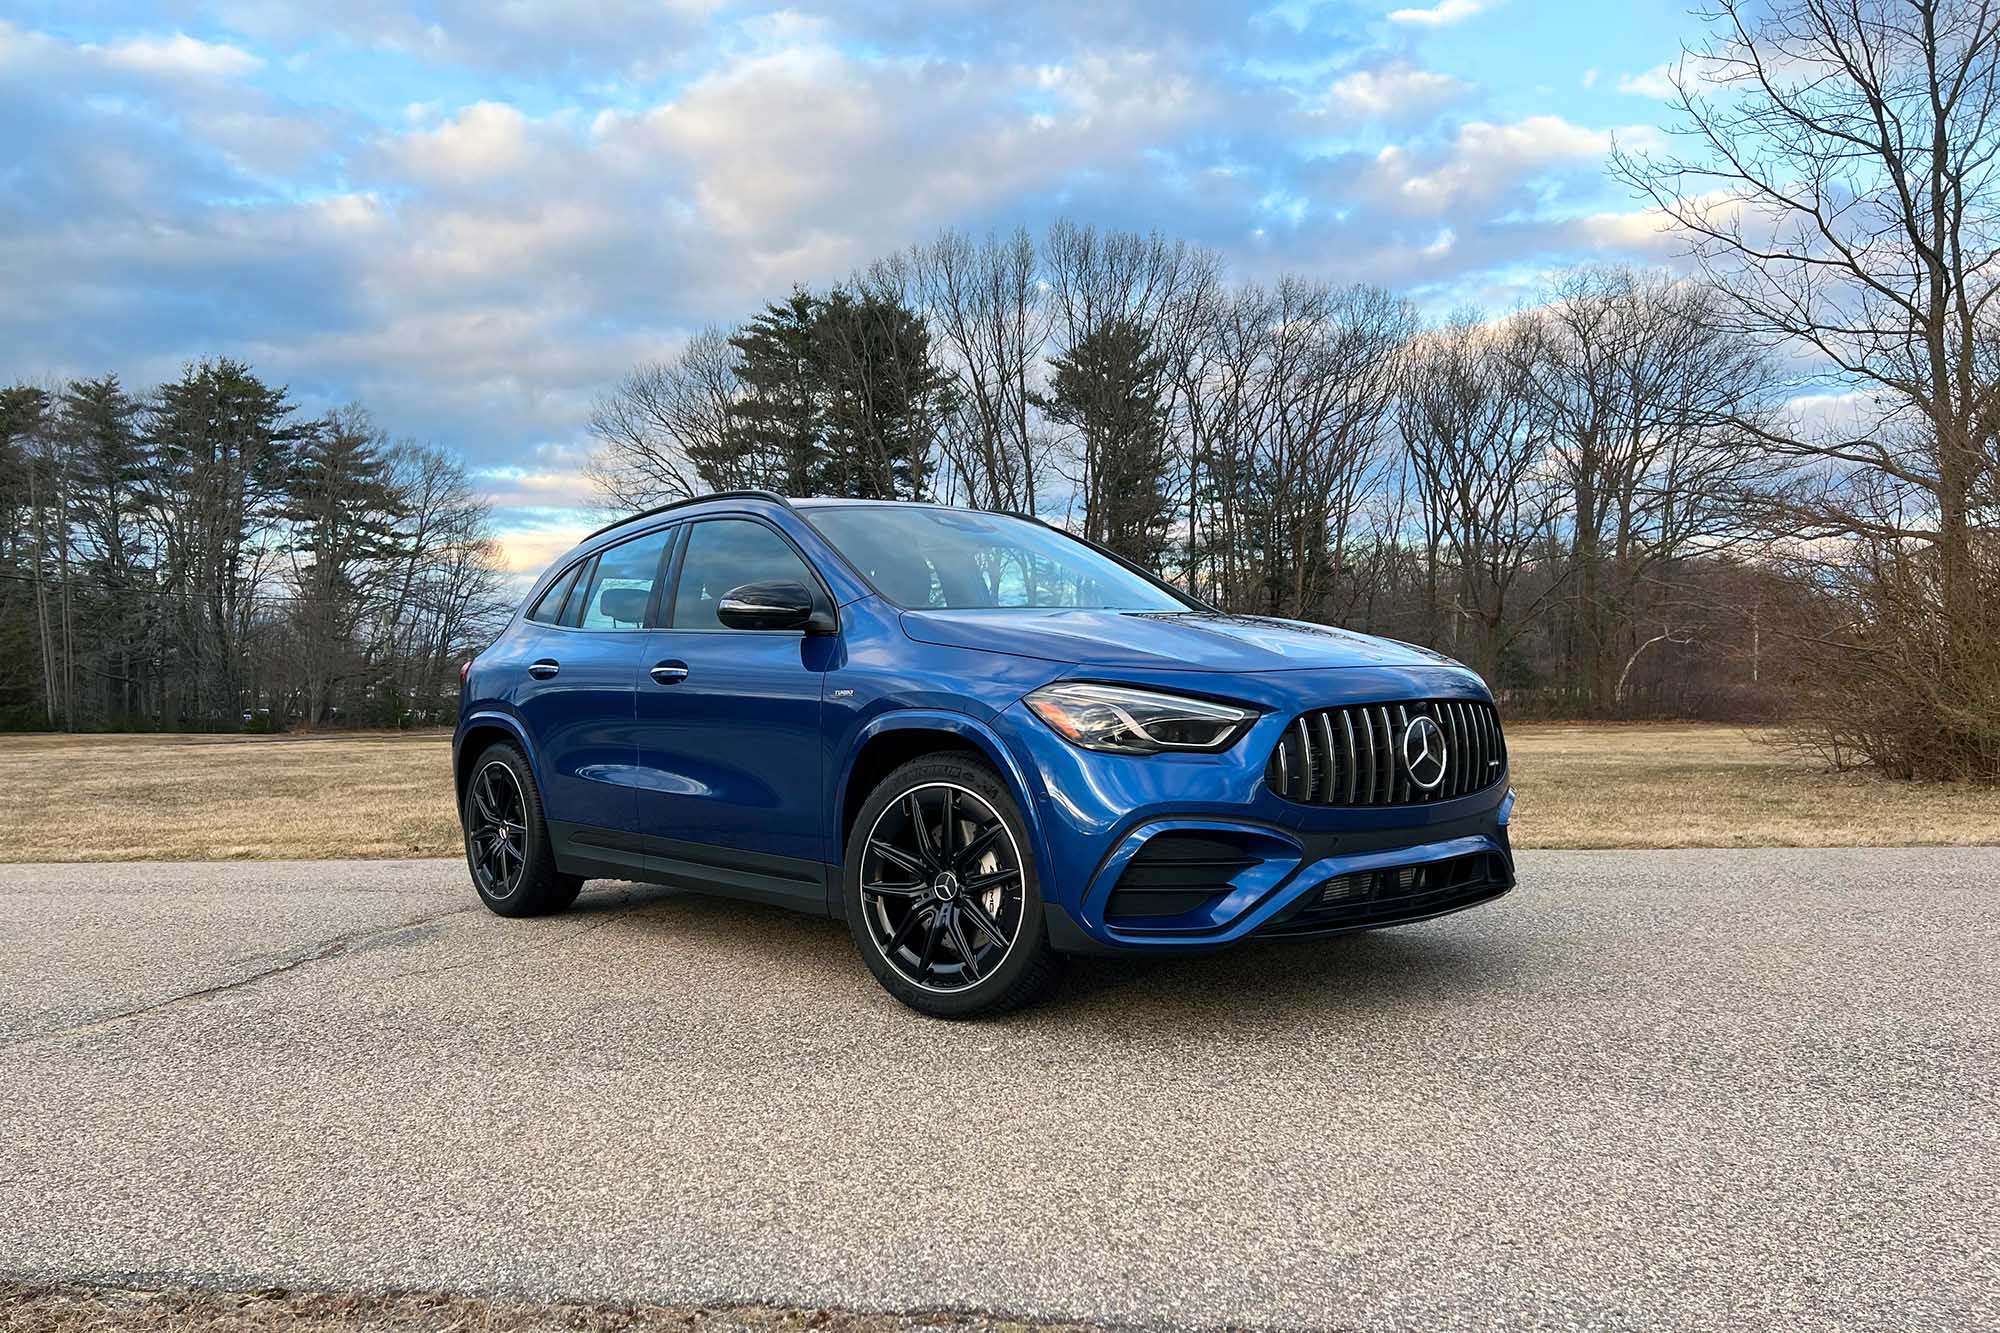
[(1062, 975), (1028, 823), (978, 759), (916, 759), (876, 785), (854, 819), (842, 897), (868, 971), (918, 1013), (1006, 1013)]

